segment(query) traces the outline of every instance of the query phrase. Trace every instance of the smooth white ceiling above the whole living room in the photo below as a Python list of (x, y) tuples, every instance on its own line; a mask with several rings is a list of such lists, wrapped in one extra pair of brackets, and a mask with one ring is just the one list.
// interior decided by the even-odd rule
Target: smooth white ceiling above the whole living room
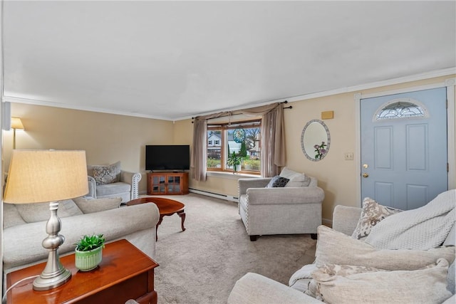
[(6, 101), (180, 120), (456, 66), (456, 1), (4, 1)]

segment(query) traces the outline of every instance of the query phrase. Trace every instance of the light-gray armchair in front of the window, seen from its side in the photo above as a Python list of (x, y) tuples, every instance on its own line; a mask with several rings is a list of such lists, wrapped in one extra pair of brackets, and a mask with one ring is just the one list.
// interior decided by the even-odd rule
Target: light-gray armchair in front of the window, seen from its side
[(316, 239), (323, 189), (316, 178), (287, 168), (280, 177), (289, 179), (284, 187), (266, 187), (273, 178), (238, 180), (239, 215), (250, 241), (272, 234), (311, 234)]

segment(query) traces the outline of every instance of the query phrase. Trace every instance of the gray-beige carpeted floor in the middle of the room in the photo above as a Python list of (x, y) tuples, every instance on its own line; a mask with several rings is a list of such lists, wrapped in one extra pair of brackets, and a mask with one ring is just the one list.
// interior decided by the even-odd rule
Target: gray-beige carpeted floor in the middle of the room
[(288, 285), (295, 271), (314, 261), (309, 234), (261, 236), (251, 242), (237, 203), (199, 194), (165, 196), (185, 204), (186, 231), (176, 214), (158, 228), (155, 290), (158, 303), (227, 303), (236, 281), (260, 273)]

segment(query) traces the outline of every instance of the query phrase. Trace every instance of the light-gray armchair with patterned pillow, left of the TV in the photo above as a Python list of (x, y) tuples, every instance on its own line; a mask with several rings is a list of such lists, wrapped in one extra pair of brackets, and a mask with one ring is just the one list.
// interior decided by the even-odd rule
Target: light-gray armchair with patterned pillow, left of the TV
[(110, 165), (88, 165), (88, 194), (94, 199), (121, 197), (125, 203), (138, 199), (139, 172), (120, 169), (120, 162)]

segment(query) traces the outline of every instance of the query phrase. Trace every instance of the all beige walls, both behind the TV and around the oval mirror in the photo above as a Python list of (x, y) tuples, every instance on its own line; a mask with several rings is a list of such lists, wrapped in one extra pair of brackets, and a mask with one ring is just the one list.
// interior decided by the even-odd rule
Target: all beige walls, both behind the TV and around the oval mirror
[[(293, 109), (284, 111), (286, 166), (318, 179), (326, 194), (323, 218), (331, 219), (333, 207), (337, 204), (361, 204), (361, 201), (356, 201), (355, 161), (343, 159), (345, 152), (356, 152), (355, 93), (377, 93), (443, 83), (451, 77), (455, 75), (291, 103)], [(311, 162), (301, 151), (301, 132), (306, 122), (320, 119), (321, 112), (328, 110), (334, 111), (332, 120), (324, 120), (331, 133), (331, 147), (323, 160)], [(120, 160), (123, 169), (142, 174), (145, 173), (145, 145), (192, 145), (191, 120), (170, 122), (16, 103), (11, 105), (11, 115), (21, 117), (26, 127), (25, 132), (17, 132), (17, 149), (86, 150), (88, 164), (108, 164)], [(4, 132), (5, 169), (9, 167), (11, 157), (11, 134), (12, 131)], [(238, 178), (234, 174), (209, 175), (207, 182), (190, 179), (190, 187), (237, 196)], [(144, 193), (145, 189), (143, 175), (140, 192)]]

